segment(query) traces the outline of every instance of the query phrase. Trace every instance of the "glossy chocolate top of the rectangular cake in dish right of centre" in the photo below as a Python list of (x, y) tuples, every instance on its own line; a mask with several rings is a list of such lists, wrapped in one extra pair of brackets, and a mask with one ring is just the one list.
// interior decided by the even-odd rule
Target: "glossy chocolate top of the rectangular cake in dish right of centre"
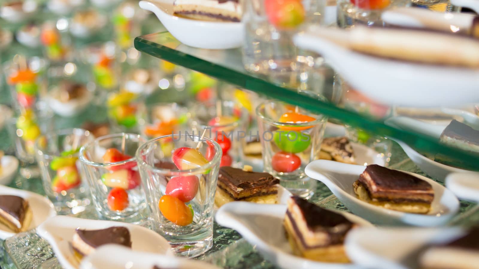
[[(359, 177), (359, 182), (369, 186), (365, 174), (369, 174), (372, 181), (376, 184), (379, 191), (398, 190), (398, 191), (430, 191), (432, 190), (431, 184), (418, 179), (410, 174), (388, 169), (376, 164), (368, 165)], [(368, 188), (369, 190), (370, 188)], [(369, 190), (371, 191), (371, 190)]]

